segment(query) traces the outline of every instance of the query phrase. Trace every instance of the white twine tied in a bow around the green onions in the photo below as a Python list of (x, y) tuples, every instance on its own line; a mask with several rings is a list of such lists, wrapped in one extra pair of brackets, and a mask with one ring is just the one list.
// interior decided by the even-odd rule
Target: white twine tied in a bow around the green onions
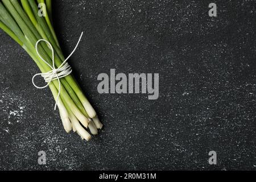
[[(65, 76), (68, 76), (71, 72), (72, 72), (72, 69), (71, 67), (69, 66), (67, 62), (67, 60), (69, 59), (69, 57), (72, 56), (72, 54), (76, 51), (76, 48), (77, 46), (79, 45), (80, 41), (81, 41), (81, 38), (82, 38), (82, 34), (83, 32), (81, 33), (80, 35), (80, 38), (79, 38), (79, 41), (77, 42), (76, 44), (76, 47), (75, 49), (73, 49), (73, 51), (71, 52), (71, 54), (67, 57), (67, 59), (65, 59), (63, 61), (63, 63), (58, 67), (58, 68), (55, 68), (55, 64), (54, 64), (54, 51), (53, 51), (53, 48), (52, 48), (52, 45), (51, 43), (49, 43), (47, 40), (44, 40), (44, 39), (40, 39), (38, 40), (38, 42), (36, 42), (36, 45), (35, 45), (35, 49), (36, 49), (36, 53), (38, 54), (38, 56), (40, 57), (40, 59), (42, 59), (44, 61), (44, 63), (46, 63), (52, 70), (49, 71), (49, 72), (46, 72), (46, 73), (37, 73), (35, 74), (33, 77), (32, 77), (32, 84), (38, 88), (38, 89), (43, 89), (43, 88), (46, 88), (49, 83), (53, 80), (58, 80), (59, 81), (59, 93), (58, 93), (58, 96), (57, 96), (57, 99), (56, 99), (56, 102), (55, 102), (55, 106), (54, 106), (54, 110), (56, 110), (56, 106), (57, 106), (57, 102), (59, 100), (59, 97), (60, 97), (60, 78), (62, 77), (65, 77)], [(40, 56), (40, 53), (38, 52), (38, 44), (39, 42), (46, 42), (49, 47), (51, 48), (51, 51), (52, 51), (52, 65), (48, 64), (46, 60), (43, 59), (43, 57)], [(47, 85), (46, 86), (37, 86), (34, 82), (34, 78), (36, 76), (42, 76), (44, 78), (44, 81), (47, 82)]]

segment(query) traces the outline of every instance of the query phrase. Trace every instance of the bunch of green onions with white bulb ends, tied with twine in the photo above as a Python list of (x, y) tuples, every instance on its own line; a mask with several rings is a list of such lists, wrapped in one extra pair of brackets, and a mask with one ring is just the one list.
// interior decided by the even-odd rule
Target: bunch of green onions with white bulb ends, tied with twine
[[(43, 9), (44, 16), (38, 15), (39, 3), (46, 5), (46, 9)], [(59, 68), (65, 60), (52, 26), (51, 0), (2, 0), (0, 2), (0, 28), (25, 49), (42, 73), (51, 71), (51, 68), (36, 53), (35, 44), (38, 40), (44, 39), (51, 43), (55, 52), (56, 68)], [(52, 51), (48, 44), (40, 43), (38, 51), (40, 56), (52, 65)], [(67, 133), (73, 130), (85, 140), (91, 138), (85, 128), (89, 128), (93, 135), (98, 134), (98, 129), (102, 128), (102, 124), (72, 75), (60, 78), (58, 100), (59, 82), (52, 80), (48, 86), (57, 102), (60, 118)]]

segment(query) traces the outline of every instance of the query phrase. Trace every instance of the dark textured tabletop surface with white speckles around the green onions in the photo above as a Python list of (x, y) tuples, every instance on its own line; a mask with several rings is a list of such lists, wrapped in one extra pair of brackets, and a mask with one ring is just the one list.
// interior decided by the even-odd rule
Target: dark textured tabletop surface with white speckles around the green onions
[[(0, 31), (0, 169), (256, 169), (256, 2), (55, 1), (54, 22), (104, 130), (65, 133), (39, 69)], [(159, 98), (99, 94), (97, 76), (159, 73)], [(39, 166), (38, 152), (47, 164)], [(217, 152), (217, 165), (208, 152)]]

